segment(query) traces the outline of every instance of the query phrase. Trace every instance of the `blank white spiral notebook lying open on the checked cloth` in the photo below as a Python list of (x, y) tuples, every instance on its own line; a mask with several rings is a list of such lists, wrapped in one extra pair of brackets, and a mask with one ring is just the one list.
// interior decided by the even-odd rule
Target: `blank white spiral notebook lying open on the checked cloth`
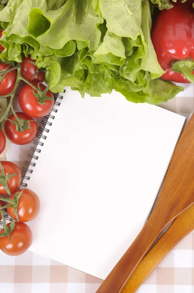
[(67, 87), (22, 183), (41, 202), (30, 250), (105, 279), (141, 230), (184, 123), (117, 92), (82, 99)]

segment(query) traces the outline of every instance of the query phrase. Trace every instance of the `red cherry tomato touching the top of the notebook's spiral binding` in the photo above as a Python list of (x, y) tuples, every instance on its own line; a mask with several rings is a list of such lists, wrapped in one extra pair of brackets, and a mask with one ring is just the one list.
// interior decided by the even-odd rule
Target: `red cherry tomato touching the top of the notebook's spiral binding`
[[(38, 83), (33, 83), (38, 87)], [(46, 86), (44, 84), (39, 84), (41, 91), (43, 91)], [(53, 100), (45, 100), (44, 104), (39, 104), (37, 98), (34, 96), (33, 92), (37, 93), (30, 85), (26, 84), (19, 92), (19, 105), (21, 110), (26, 114), (34, 118), (42, 118), (49, 114), (54, 106), (54, 96), (53, 93), (48, 90), (46, 93), (47, 97), (53, 98)]]

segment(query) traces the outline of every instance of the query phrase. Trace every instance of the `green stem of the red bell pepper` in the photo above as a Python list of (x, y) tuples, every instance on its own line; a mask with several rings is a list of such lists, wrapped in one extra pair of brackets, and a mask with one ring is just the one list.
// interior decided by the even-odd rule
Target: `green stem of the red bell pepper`
[(194, 60), (181, 60), (177, 61), (172, 66), (172, 71), (181, 73), (192, 84), (194, 84)]

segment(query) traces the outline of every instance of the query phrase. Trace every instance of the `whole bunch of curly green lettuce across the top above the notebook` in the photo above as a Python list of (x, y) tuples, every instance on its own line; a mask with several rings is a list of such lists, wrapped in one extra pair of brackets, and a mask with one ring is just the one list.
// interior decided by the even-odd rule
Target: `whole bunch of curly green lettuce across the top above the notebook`
[[(160, 9), (168, 0), (152, 0)], [(70, 85), (91, 96), (113, 89), (158, 104), (182, 87), (160, 77), (149, 0), (11, 0), (0, 11), (1, 62), (31, 55), (53, 92)]]

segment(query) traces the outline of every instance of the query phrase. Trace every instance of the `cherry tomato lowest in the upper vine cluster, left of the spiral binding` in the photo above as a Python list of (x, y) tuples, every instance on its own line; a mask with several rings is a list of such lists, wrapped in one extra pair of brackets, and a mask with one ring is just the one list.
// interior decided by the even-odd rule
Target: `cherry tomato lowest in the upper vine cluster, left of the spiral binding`
[(9, 120), (16, 121), (16, 117), (14, 116), (14, 114), (12, 114), (9, 116), (8, 118), (9, 120), (5, 121), (5, 125), (4, 125), (5, 133), (8, 139), (12, 143), (16, 145), (27, 145), (31, 141), (33, 141), (33, 139), (37, 135), (37, 130), (38, 130), (37, 123), (33, 118), (27, 116), (26, 114), (22, 112), (18, 112), (16, 113), (16, 115), (22, 120), (30, 121), (29, 122), (30, 129), (25, 129), (24, 131), (17, 131), (16, 125), (9, 121)]

